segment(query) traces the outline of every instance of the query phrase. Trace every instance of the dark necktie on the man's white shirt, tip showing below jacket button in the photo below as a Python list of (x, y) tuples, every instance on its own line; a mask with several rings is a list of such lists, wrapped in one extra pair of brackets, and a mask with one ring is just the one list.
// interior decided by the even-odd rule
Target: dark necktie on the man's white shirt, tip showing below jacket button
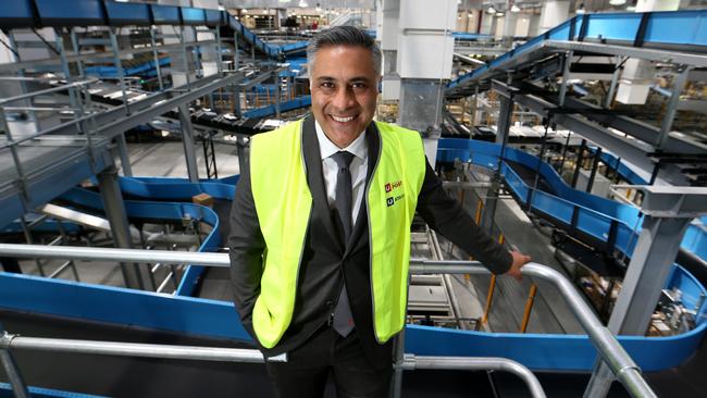
[[(351, 172), (349, 170), (351, 160), (354, 160), (354, 153), (338, 151), (332, 154), (332, 159), (338, 165), (334, 204), (342, 221), (343, 241), (344, 247), (346, 247), (348, 238), (351, 236), (351, 219), (354, 217), (351, 211), (351, 202), (354, 201), (351, 199)], [(346, 294), (346, 284), (343, 285), (336, 308), (334, 308), (334, 329), (344, 337), (348, 336), (354, 329), (354, 315), (351, 314), (348, 295)]]

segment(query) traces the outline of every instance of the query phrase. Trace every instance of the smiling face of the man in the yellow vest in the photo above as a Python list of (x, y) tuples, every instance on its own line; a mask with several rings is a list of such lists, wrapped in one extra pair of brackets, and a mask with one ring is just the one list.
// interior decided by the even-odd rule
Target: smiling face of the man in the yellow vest
[(328, 46), (317, 52), (310, 71), (312, 112), (339, 148), (351, 144), (373, 120), (377, 84), (370, 50)]

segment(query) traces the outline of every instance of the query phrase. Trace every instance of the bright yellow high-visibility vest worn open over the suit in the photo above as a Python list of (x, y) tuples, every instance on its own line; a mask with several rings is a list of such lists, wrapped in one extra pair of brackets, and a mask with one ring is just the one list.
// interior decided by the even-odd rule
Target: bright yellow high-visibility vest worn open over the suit
[[(371, 260), (373, 324), (379, 343), (405, 325), (410, 225), (426, 160), (417, 132), (376, 122), (381, 151), (364, 195)], [(302, 121), (259, 134), (250, 142), (252, 197), (265, 240), (260, 296), (252, 324), (273, 348), (289, 326), (312, 211), (301, 147)]]

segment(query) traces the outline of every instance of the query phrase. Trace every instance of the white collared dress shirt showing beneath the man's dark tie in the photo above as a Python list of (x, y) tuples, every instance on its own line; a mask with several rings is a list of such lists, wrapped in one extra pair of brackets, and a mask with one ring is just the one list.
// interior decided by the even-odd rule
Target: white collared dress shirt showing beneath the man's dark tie
[(332, 210), (334, 209), (334, 200), (336, 200), (336, 174), (338, 174), (338, 165), (332, 159), (332, 154), (338, 151), (354, 153), (349, 171), (351, 173), (352, 185), (351, 225), (355, 225), (359, 210), (361, 209), (361, 200), (365, 190), (365, 174), (369, 170), (369, 142), (365, 140), (365, 130), (348, 147), (339, 148), (326, 137), (318, 122), (314, 122), (314, 125), (317, 127), (317, 139), (319, 140), (319, 152), (322, 157), (322, 173), (324, 174), (326, 201), (328, 202), (328, 208)]

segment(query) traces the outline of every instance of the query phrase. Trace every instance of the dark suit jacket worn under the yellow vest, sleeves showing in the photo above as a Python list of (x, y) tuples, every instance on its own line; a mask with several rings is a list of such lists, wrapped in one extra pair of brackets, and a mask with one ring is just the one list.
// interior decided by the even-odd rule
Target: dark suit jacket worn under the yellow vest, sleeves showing
[[(390, 345), (379, 344), (373, 334), (365, 202), (361, 204), (349, 241), (343, 242), (339, 238), (338, 217), (333, 216), (326, 201), (322, 162), (312, 116), (305, 120), (302, 129), (302, 152), (313, 206), (299, 270), (293, 320), (275, 348), (265, 349), (258, 344), (252, 329), (251, 314), (260, 293), (261, 256), (265, 246), (250, 189), (250, 170), (243, 170), (240, 173), (231, 213), (228, 248), (236, 309), (258, 347), (265, 356), (274, 356), (303, 344), (327, 322), (342, 284), (346, 283), (356, 333), (367, 356), (373, 363), (381, 363), (381, 359), (390, 358)], [(380, 134), (374, 123), (371, 123), (367, 129), (367, 140), (369, 144), (368, 184), (381, 145)], [(255, 177), (266, 178), (268, 176)], [(433, 229), (479, 259), (492, 272), (504, 273), (510, 268), (512, 261), (510, 253), (484, 234), (460, 204), (445, 192), (442, 182), (429, 163), (418, 197), (417, 211)]]

